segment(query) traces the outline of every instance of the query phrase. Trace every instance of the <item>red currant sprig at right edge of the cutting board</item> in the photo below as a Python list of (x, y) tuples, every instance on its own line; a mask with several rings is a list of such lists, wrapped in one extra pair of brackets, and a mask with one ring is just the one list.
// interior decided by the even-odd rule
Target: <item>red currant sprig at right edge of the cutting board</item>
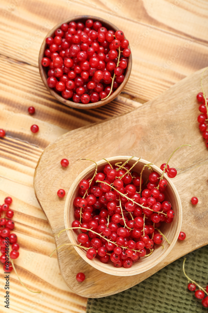
[(207, 101), (205, 102), (205, 99), (203, 97), (203, 93), (199, 92), (196, 96), (196, 99), (201, 102), (199, 105), (199, 110), (201, 114), (198, 116), (197, 121), (200, 123), (199, 124), (199, 129), (202, 132), (202, 137), (205, 139), (205, 145), (208, 148), (208, 131), (207, 131)]

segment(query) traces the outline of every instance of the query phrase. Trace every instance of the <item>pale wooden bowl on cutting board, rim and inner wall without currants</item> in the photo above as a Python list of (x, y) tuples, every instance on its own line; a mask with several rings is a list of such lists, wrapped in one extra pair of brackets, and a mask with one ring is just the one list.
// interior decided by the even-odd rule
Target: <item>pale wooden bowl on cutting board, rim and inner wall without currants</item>
[[(107, 160), (112, 165), (114, 165), (115, 163), (119, 161), (125, 162), (126, 160), (129, 159), (129, 157), (130, 156), (114, 156), (114, 157), (108, 158)], [(128, 162), (128, 164), (132, 166), (137, 160), (138, 158), (134, 157), (132, 160)], [(140, 173), (143, 166), (148, 163), (150, 162), (141, 159), (135, 165), (134, 171)], [(99, 170), (103, 169), (103, 167), (107, 164), (107, 162), (105, 160), (101, 160), (97, 162), (97, 164), (98, 164), (98, 172), (99, 172)], [(151, 167), (155, 172), (159, 173), (160, 175), (162, 174), (161, 169), (157, 167), (156, 165), (151, 165)], [(64, 208), (65, 228), (70, 228), (72, 221), (75, 219), (73, 200), (75, 197), (78, 196), (80, 180), (84, 178), (92, 177), (92, 175), (94, 174), (94, 171), (95, 171), (95, 165), (93, 164), (87, 167), (83, 172), (81, 172), (80, 175), (78, 175), (78, 177), (75, 179), (75, 181), (71, 185), (67, 198), (66, 198), (65, 208)], [(142, 176), (144, 181), (148, 179), (149, 174), (150, 174), (150, 171), (148, 170), (148, 167), (145, 167), (143, 171), (143, 176)], [(146, 258), (141, 258), (137, 262), (133, 262), (133, 265), (130, 269), (126, 269), (123, 267), (115, 268), (113, 264), (102, 263), (96, 257), (92, 260), (89, 260), (86, 256), (86, 252), (83, 249), (74, 247), (75, 250), (79, 253), (79, 255), (94, 268), (106, 274), (115, 275), (115, 276), (137, 275), (137, 274), (143, 273), (151, 269), (152, 267), (160, 263), (175, 245), (178, 239), (178, 236), (181, 230), (181, 224), (182, 224), (182, 206), (181, 206), (181, 200), (180, 200), (179, 194), (177, 192), (176, 187), (174, 186), (170, 178), (167, 177), (166, 174), (164, 175), (164, 178), (168, 182), (166, 191), (164, 192), (166, 196), (166, 200), (169, 200), (171, 202), (172, 208), (175, 212), (175, 216), (173, 218), (172, 223), (170, 224), (162, 223), (160, 230), (162, 231), (162, 233), (165, 234), (167, 239), (170, 241), (170, 244), (167, 244), (165, 239), (163, 239), (163, 244), (164, 244), (163, 249), (161, 249), (160, 245), (155, 245), (155, 249), (150, 256)], [(80, 232), (81, 232), (80, 230), (77, 230), (77, 231), (67, 230), (67, 235), (69, 237), (70, 242), (77, 244), (78, 243), (77, 235)]]

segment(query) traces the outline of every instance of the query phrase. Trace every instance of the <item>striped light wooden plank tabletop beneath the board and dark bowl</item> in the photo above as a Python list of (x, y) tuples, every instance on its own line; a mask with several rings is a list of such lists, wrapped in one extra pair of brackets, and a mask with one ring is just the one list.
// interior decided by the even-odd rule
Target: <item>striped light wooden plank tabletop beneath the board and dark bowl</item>
[[(113, 103), (75, 110), (58, 103), (44, 87), (38, 53), (47, 32), (70, 16), (90, 14), (110, 20), (129, 39), (130, 79)], [(0, 203), (13, 198), (15, 233), (21, 246), (17, 271), (31, 294), (10, 275), (11, 312), (85, 312), (87, 299), (70, 292), (56, 258), (55, 241), (33, 189), (43, 149), (75, 128), (139, 107), (176, 82), (207, 66), (208, 3), (203, 0), (1, 0), (0, 3)], [(134, 101), (132, 101), (134, 100)], [(27, 108), (33, 105), (31, 116)], [(32, 134), (30, 126), (40, 131)], [(0, 273), (0, 311), (5, 279)]]

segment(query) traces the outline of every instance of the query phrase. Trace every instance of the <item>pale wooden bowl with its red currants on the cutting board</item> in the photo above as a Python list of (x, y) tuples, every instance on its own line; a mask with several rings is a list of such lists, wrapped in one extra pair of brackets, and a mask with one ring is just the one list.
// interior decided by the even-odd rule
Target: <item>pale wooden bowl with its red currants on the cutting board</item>
[(181, 230), (181, 201), (170, 179), (176, 173), (167, 163), (159, 168), (137, 157), (94, 162), (66, 198), (68, 244), (110, 275), (151, 269), (168, 255)]

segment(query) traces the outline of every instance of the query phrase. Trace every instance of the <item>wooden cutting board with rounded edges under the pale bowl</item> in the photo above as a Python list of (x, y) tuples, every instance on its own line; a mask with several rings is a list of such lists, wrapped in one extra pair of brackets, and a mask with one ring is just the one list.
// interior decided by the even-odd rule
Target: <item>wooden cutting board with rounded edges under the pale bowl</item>
[[(57, 190), (63, 188), (67, 193), (75, 177), (90, 165), (89, 161), (76, 161), (78, 158), (98, 161), (103, 157), (135, 155), (160, 166), (178, 146), (192, 146), (178, 150), (170, 162), (178, 172), (173, 182), (181, 197), (182, 230), (186, 232), (186, 240), (178, 241), (167, 258), (153, 269), (130, 277), (104, 274), (83, 261), (73, 247), (61, 248), (57, 251), (60, 272), (76, 294), (91, 298), (115, 294), (208, 244), (208, 150), (198, 129), (196, 100), (196, 94), (201, 91), (201, 73), (202, 70), (197, 71), (126, 115), (66, 133), (47, 146), (41, 155), (34, 175), (34, 188), (59, 246), (69, 240), (65, 233), (59, 239), (56, 235), (65, 228), (65, 198), (58, 198)], [(208, 93), (208, 71), (204, 74), (203, 85)], [(60, 165), (62, 158), (70, 162), (65, 169)], [(193, 196), (199, 199), (196, 206), (190, 202)], [(82, 283), (75, 279), (78, 272), (85, 273), (86, 279)]]

